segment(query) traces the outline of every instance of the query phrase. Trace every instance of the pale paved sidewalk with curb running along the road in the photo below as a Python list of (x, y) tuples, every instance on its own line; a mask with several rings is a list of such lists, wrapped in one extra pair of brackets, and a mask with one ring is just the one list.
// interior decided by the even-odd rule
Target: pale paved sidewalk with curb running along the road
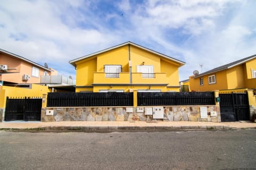
[(0, 123), (0, 130), (79, 130), (88, 132), (97, 131), (178, 131), (178, 130), (231, 130), (254, 129), (256, 123), (251, 122), (23, 122), (11, 121)]

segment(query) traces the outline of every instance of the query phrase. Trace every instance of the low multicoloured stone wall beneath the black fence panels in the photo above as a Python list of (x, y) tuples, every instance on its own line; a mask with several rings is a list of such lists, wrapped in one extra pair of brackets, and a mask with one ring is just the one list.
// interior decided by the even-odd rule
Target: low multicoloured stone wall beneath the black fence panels
[[(158, 121), (220, 122), (219, 106), (206, 107), (207, 118), (201, 118), (200, 106), (164, 107), (164, 118)], [(137, 112), (137, 107), (130, 109), (131, 112), (126, 107), (49, 107), (42, 108), (41, 121), (155, 121), (152, 115), (145, 115), (144, 111)], [(51, 111), (52, 115), (46, 115), (46, 111)], [(211, 116), (211, 112), (217, 113), (217, 116)]]

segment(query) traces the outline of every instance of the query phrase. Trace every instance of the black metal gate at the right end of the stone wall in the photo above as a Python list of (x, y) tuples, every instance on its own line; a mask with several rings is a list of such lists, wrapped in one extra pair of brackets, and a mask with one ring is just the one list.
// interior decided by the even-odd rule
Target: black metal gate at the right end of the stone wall
[(221, 122), (249, 121), (249, 100), (246, 93), (219, 94)]

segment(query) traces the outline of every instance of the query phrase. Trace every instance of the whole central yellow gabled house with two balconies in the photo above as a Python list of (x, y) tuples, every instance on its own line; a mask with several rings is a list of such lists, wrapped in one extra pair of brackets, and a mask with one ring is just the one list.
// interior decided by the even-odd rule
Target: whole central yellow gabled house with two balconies
[(76, 68), (76, 92), (179, 91), (185, 64), (130, 41), (69, 63)]

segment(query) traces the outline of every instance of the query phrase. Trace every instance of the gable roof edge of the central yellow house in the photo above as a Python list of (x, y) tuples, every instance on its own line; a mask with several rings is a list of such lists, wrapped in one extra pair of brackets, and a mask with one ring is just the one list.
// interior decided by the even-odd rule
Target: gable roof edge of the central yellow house
[(140, 45), (138, 45), (138, 44), (132, 43), (131, 41), (128, 41), (128, 42), (123, 43), (123, 44), (116, 45), (116, 46), (114, 46), (114, 47), (110, 47), (110, 48), (107, 48), (107, 49), (103, 49), (103, 50), (100, 50), (99, 52), (95, 52), (95, 53), (92, 53), (92, 54), (89, 54), (89, 55), (85, 55), (85, 56), (83, 56), (83, 57), (76, 58), (75, 60), (69, 61), (69, 63), (76, 67), (76, 64), (75, 64), (75, 63), (78, 62), (78, 61), (81, 61), (81, 60), (84, 60), (84, 59), (86, 59), (86, 58), (90, 58), (90, 57), (92, 57), (92, 56), (94, 56), (94, 55), (98, 55), (98, 54), (107, 52), (107, 51), (109, 51), (109, 50), (116, 49), (116, 48), (119, 48), (119, 47), (122, 47), (122, 46), (126, 46), (126, 45), (133, 45), (133, 46), (138, 47), (138, 48), (140, 48), (140, 49), (144, 49), (144, 50), (146, 50), (146, 51), (148, 51), (148, 52), (150, 52), (150, 53), (154, 53), (154, 54), (156, 54), (156, 55), (162, 56), (162, 57), (166, 58), (167, 60), (171, 60), (171, 61), (173, 61), (173, 62), (179, 63), (180, 65), (185, 65), (185, 64), (186, 64), (185, 62), (182, 62), (182, 61), (177, 60), (177, 59), (175, 59), (175, 58), (173, 58), (173, 57), (164, 55), (164, 54), (162, 54), (162, 53), (158, 53), (158, 52), (156, 52), (156, 51), (154, 51), (154, 50), (152, 50), (152, 49), (149, 49), (149, 48), (140, 46)]

